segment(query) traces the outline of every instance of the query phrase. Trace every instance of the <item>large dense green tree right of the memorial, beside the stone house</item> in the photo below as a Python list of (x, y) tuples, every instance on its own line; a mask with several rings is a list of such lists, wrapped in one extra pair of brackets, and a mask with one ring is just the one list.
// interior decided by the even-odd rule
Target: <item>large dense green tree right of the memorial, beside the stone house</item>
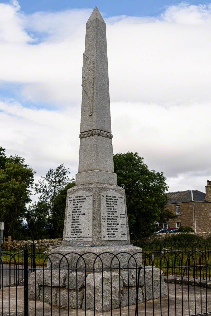
[(156, 222), (174, 218), (165, 208), (167, 185), (162, 172), (149, 170), (138, 153), (114, 155), (117, 185), (125, 189), (129, 230), (134, 237), (156, 231)]

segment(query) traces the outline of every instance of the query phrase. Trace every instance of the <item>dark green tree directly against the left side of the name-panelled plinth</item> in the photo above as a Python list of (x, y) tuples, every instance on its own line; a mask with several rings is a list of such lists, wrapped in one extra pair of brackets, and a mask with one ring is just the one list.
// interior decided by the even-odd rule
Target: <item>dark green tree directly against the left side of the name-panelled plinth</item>
[(49, 217), (49, 234), (52, 238), (63, 236), (67, 190), (73, 186), (75, 186), (75, 182), (71, 180), (71, 183), (66, 185), (55, 198), (52, 214)]

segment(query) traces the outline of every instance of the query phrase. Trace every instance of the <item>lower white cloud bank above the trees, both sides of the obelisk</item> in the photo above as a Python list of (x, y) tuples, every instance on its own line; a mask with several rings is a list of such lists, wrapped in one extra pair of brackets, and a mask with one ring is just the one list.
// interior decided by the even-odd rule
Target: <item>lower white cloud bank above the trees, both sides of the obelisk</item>
[[(62, 162), (75, 175), (79, 107), (50, 111), (0, 102), (0, 111), (3, 111), (1, 128), (7, 131), (1, 145), (8, 154), (25, 157), (36, 170), (36, 179)], [(205, 112), (206, 116), (202, 115)], [(138, 151), (151, 169), (164, 171), (171, 191), (190, 186), (203, 190), (211, 174), (209, 105), (186, 105), (181, 116), (179, 106), (112, 102), (111, 117), (115, 153)]]

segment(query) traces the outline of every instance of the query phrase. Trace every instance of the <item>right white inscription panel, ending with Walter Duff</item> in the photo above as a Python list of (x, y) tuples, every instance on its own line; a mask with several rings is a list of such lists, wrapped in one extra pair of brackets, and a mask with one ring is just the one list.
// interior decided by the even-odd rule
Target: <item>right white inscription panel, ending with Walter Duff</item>
[(124, 197), (112, 190), (101, 194), (101, 240), (127, 240)]

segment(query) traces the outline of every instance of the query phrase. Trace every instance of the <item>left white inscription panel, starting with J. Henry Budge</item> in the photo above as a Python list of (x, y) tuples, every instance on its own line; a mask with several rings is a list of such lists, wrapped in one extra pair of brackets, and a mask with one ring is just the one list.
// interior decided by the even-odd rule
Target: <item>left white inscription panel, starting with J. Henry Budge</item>
[(92, 194), (78, 191), (68, 198), (65, 240), (92, 240)]

